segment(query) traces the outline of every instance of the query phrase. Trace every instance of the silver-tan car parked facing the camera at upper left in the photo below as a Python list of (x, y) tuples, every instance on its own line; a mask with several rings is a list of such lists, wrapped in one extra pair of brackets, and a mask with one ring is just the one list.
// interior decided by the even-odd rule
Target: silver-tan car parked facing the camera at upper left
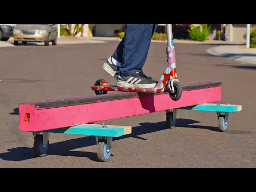
[(27, 42), (44, 42), (44, 45), (57, 45), (58, 24), (18, 24), (13, 30), (14, 45), (21, 41), (23, 45)]

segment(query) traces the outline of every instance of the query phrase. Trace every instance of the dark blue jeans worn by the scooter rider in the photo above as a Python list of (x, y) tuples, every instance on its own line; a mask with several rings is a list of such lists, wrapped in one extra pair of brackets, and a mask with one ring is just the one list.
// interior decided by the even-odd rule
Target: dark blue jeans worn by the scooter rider
[(125, 24), (125, 35), (112, 57), (121, 62), (119, 74), (125, 77), (142, 70), (151, 37), (158, 24)]

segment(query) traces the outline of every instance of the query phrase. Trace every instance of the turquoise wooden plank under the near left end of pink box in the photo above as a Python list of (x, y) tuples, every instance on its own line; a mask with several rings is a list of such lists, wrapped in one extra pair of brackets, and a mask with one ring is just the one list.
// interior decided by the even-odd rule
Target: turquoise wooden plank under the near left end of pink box
[(124, 128), (111, 127), (111, 126), (103, 128), (101, 126), (75, 125), (69, 128), (46, 130), (44, 132), (93, 135), (93, 136), (103, 136), (103, 137), (120, 137), (124, 135)]

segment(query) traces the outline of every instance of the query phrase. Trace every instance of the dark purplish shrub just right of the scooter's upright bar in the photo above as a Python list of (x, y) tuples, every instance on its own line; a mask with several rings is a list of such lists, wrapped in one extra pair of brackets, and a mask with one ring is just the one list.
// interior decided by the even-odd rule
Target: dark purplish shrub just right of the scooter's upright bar
[(173, 38), (176, 39), (188, 39), (190, 24), (172, 24)]

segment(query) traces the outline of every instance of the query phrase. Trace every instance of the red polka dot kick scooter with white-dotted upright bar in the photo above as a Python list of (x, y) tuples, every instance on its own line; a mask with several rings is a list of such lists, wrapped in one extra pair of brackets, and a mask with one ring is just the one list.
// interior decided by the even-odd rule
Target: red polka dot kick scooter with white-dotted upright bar
[(106, 94), (108, 91), (123, 91), (123, 92), (142, 92), (142, 93), (163, 93), (169, 92), (170, 98), (177, 101), (181, 98), (182, 87), (179, 83), (176, 71), (175, 51), (173, 45), (172, 24), (166, 24), (167, 31), (167, 67), (164, 70), (158, 84), (154, 88), (131, 88), (109, 86), (104, 79), (98, 79), (91, 90), (95, 94)]

